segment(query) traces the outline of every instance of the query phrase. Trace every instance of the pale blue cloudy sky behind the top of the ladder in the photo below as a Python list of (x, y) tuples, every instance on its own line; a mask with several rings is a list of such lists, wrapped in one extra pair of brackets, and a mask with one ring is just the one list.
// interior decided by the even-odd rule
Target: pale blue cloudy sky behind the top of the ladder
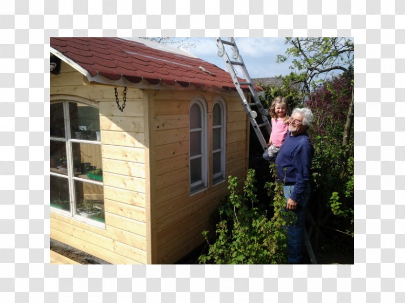
[[(227, 40), (226, 37), (222, 39)], [(290, 73), (291, 59), (284, 63), (276, 63), (277, 55), (284, 55), (288, 47), (284, 44), (285, 38), (234, 39), (251, 78), (285, 76)], [(223, 57), (218, 56), (216, 38), (189, 38), (187, 42), (196, 45), (187, 49), (187, 52), (227, 71)], [(231, 58), (231, 46), (225, 45), (225, 51)]]

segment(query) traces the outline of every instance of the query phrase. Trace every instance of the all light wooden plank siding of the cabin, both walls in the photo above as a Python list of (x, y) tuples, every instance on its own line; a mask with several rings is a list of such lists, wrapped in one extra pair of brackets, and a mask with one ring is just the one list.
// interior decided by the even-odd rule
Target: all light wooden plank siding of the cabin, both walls
[[(211, 213), (228, 192), (212, 185), (212, 107), (219, 95), (197, 91), (127, 88), (118, 110), (113, 86), (89, 83), (62, 63), (51, 74), (51, 99), (91, 101), (100, 109), (105, 227), (51, 212), (51, 237), (113, 264), (172, 264), (214, 227)], [(122, 88), (118, 88), (122, 104)], [(189, 107), (197, 95), (207, 105), (208, 187), (190, 196)], [(248, 119), (236, 92), (226, 104), (226, 168), (243, 181)]]

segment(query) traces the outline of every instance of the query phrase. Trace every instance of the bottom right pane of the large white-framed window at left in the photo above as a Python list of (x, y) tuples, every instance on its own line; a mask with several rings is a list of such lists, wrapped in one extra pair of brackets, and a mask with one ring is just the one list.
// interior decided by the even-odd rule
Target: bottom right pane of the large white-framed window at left
[(76, 213), (104, 222), (104, 191), (101, 185), (75, 180)]

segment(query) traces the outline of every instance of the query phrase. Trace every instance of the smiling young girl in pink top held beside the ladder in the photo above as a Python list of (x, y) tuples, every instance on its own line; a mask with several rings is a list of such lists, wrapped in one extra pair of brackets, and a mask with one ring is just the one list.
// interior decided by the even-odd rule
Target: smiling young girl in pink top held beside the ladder
[(271, 134), (267, 143), (268, 148), (263, 153), (263, 159), (274, 162), (288, 132), (288, 119), (291, 110), (287, 100), (282, 96), (276, 97), (270, 106), (269, 114), (271, 117)]

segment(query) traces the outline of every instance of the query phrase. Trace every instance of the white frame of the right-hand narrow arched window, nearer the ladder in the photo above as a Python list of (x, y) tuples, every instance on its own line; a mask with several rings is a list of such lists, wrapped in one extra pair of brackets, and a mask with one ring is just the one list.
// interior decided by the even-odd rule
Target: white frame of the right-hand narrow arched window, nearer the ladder
[[(214, 126), (214, 107), (219, 105), (221, 108), (221, 125)], [(214, 129), (221, 129), (221, 147), (214, 150)], [(219, 184), (225, 181), (225, 160), (226, 160), (226, 107), (225, 100), (222, 97), (216, 97), (212, 105), (212, 185)], [(221, 155), (221, 171), (214, 174), (214, 153), (222, 152)]]

